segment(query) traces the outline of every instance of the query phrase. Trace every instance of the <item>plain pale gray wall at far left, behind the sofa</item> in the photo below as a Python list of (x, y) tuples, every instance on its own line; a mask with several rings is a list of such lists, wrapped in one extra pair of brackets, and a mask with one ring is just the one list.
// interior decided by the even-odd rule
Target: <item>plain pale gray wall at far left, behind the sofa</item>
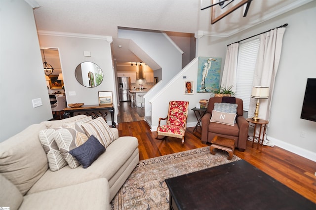
[[(52, 118), (33, 8), (0, 1), (0, 141)], [(33, 108), (32, 99), (41, 106)]]

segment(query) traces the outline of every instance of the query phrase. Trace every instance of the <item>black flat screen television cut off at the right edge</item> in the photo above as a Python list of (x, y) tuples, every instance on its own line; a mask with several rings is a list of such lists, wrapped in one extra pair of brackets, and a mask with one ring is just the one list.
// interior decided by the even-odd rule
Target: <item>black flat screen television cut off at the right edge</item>
[(307, 79), (301, 119), (316, 122), (316, 78)]

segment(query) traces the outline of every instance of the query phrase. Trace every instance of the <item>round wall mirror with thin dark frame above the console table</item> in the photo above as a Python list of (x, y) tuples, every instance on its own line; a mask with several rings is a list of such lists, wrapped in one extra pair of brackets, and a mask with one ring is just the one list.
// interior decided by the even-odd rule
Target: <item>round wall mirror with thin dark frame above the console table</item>
[(75, 70), (77, 81), (84, 87), (96, 87), (103, 80), (103, 71), (92, 62), (82, 62)]

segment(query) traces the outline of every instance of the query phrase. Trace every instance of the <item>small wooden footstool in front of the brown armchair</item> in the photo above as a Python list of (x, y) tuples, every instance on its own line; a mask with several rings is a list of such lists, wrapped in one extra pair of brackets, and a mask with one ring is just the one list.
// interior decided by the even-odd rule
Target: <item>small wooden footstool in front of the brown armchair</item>
[(219, 137), (215, 136), (214, 139), (211, 141), (211, 146), (209, 147), (209, 150), (211, 151), (211, 154), (215, 155), (214, 149), (221, 149), (224, 151), (227, 151), (229, 156), (228, 160), (233, 158), (234, 155), (234, 149), (235, 149), (235, 140), (227, 139), (225, 137)]

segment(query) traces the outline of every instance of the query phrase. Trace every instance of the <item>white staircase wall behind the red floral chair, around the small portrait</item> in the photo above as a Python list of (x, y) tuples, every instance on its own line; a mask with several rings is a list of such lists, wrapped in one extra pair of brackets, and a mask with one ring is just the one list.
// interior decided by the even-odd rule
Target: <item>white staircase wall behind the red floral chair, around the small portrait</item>
[[(220, 37), (205, 36), (197, 39), (197, 46), (200, 47), (198, 56), (206, 57), (219, 57), (222, 58), (222, 66), (224, 66), (224, 58), (226, 54), (225, 49), (226, 39)], [(223, 47), (224, 46), (224, 47)], [(196, 107), (200, 99), (209, 99), (211, 93), (197, 93), (197, 70), (198, 70), (198, 57), (191, 61), (182, 71), (180, 71), (166, 86), (159, 92), (157, 96), (151, 100), (152, 104), (152, 131), (157, 129), (159, 117), (166, 117), (168, 112), (169, 101), (189, 101), (189, 114), (187, 119), (187, 127), (195, 127), (197, 123), (196, 116), (191, 110)], [(194, 94), (184, 95), (184, 79), (194, 81)], [(155, 88), (155, 87), (154, 87)], [(146, 95), (145, 95), (146, 97)]]

